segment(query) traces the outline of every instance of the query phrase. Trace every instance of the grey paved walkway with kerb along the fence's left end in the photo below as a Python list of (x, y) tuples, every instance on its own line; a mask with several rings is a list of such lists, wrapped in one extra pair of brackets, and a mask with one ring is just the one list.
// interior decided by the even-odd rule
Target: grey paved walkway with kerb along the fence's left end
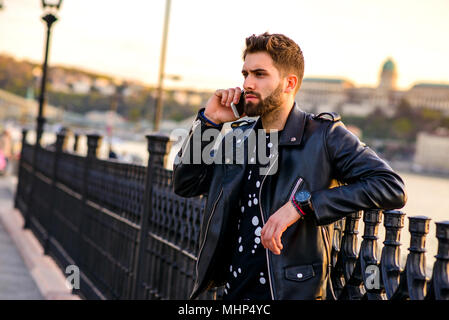
[(65, 277), (13, 208), (17, 178), (0, 176), (0, 300), (72, 300)]

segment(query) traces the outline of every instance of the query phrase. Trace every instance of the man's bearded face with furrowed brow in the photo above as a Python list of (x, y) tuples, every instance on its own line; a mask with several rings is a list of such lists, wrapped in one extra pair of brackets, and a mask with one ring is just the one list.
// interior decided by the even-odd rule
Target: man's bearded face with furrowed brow
[(263, 116), (284, 101), (284, 83), (273, 59), (266, 52), (250, 53), (242, 69), (245, 90), (245, 114), (250, 117)]

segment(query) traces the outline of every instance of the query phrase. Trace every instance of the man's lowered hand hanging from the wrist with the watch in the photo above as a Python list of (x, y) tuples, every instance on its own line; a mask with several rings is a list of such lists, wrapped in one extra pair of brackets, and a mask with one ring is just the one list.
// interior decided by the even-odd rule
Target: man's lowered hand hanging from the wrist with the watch
[(274, 254), (281, 254), (283, 248), (281, 237), (285, 230), (299, 220), (301, 216), (288, 201), (267, 220), (261, 231), (261, 241), (264, 248), (271, 250)]

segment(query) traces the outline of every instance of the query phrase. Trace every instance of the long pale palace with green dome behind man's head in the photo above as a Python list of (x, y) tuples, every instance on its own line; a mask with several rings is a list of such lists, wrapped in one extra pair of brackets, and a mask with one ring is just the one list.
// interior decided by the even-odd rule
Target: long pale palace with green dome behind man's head
[(304, 78), (296, 101), (306, 111), (340, 112), (365, 117), (376, 109), (393, 116), (402, 99), (414, 108), (430, 108), (449, 114), (449, 84), (419, 83), (407, 91), (397, 88), (398, 71), (392, 58), (380, 68), (377, 87), (356, 87), (339, 78)]

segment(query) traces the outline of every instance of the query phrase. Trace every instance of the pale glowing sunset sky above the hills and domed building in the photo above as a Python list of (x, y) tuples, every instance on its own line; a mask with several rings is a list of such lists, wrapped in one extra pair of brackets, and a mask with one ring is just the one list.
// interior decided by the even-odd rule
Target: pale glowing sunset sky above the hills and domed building
[[(40, 0), (3, 0), (0, 53), (41, 62)], [(64, 0), (50, 64), (157, 82), (164, 0)], [(377, 84), (391, 57), (398, 85), (449, 82), (449, 1), (172, 0), (167, 86), (216, 89), (242, 84), (245, 37), (284, 33), (305, 56), (305, 76)]]

